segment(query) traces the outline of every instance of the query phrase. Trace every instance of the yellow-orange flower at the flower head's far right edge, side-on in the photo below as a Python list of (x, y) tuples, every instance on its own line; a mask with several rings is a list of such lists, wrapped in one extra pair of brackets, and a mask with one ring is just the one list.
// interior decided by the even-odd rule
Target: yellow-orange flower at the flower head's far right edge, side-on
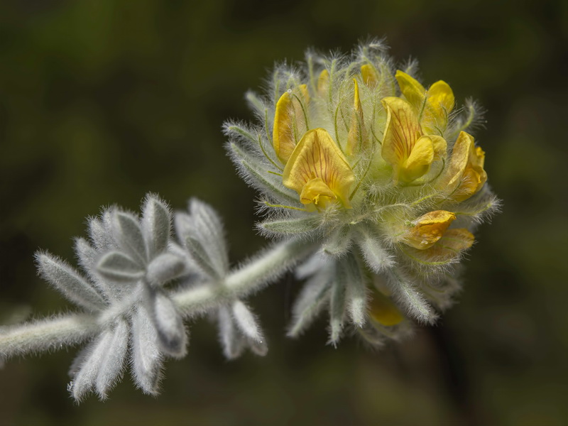
[(452, 200), (461, 202), (476, 194), (484, 186), (487, 173), (484, 170), (485, 153), (475, 146), (474, 137), (464, 131), (459, 133), (449, 164), (437, 187), (450, 194)]

